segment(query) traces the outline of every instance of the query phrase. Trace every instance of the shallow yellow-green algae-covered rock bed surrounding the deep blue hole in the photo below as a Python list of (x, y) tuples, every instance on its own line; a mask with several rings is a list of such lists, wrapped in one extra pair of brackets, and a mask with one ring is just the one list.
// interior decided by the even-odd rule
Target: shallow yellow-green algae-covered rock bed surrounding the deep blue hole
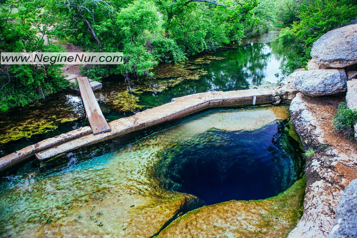
[[(279, 233), (272, 234), (286, 236), (301, 216), (303, 179), (273, 198), (203, 206), (205, 201), (201, 198), (163, 186), (155, 168), (162, 152), (180, 141), (193, 140), (213, 129), (222, 133), (260, 133), (264, 128), (280, 125), (278, 122), (288, 117), (286, 106), (213, 109), (114, 152), (101, 156), (88, 154), (87, 160), (79, 163), (71, 156), (68, 165), (59, 172), (41, 172), (30, 162), (15, 174), (2, 178), (0, 236), (172, 237), (170, 234), (176, 234), (177, 229), (191, 233), (174, 237), (197, 237), (193, 230), (210, 229), (215, 233), (198, 236), (267, 237), (267, 232), (273, 230)], [(278, 131), (275, 136), (279, 133), (283, 132)], [(293, 164), (290, 166), (286, 171), (299, 176)], [(239, 207), (242, 213), (237, 212)], [(201, 211), (210, 211), (211, 217), (199, 217)], [(244, 211), (250, 213), (240, 217)], [(192, 214), (199, 217), (195, 225), (190, 220)], [(227, 225), (222, 228), (220, 224)], [(247, 232), (240, 233), (244, 230)]]

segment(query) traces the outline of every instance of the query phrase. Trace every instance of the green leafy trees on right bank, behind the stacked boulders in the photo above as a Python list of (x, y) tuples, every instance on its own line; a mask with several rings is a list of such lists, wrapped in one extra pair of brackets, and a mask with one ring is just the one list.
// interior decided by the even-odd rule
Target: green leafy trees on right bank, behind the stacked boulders
[(327, 31), (356, 18), (357, 0), (303, 0), (296, 10), (295, 21), (291, 27), (280, 32), (279, 41), (291, 47), (285, 72), (305, 67), (313, 42)]

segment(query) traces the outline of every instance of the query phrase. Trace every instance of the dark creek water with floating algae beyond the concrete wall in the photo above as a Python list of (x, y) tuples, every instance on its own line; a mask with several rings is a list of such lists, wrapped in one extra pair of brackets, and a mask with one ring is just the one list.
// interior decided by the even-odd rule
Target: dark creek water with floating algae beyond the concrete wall
[[(122, 76), (106, 79), (95, 95), (105, 118), (113, 121), (192, 93), (270, 87), (281, 77), (279, 66), (284, 57), (277, 42), (250, 42), (186, 62), (162, 64), (151, 79), (129, 83)], [(123, 92), (129, 93), (120, 95)], [(0, 114), (0, 157), (82, 126), (89, 123), (80, 94), (72, 90), (15, 108)]]

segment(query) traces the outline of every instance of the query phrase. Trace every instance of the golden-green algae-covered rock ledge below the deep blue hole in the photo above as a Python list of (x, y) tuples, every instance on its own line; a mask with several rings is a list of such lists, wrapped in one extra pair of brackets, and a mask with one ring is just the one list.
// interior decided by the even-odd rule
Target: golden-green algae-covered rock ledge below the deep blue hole
[[(263, 200), (228, 201), (197, 208), (177, 218), (157, 237), (170, 237), (174, 234), (175, 236), (231, 234), (233, 237), (287, 237), (302, 216), (305, 189), (306, 177), (303, 176), (275, 197)], [(237, 222), (231, 224), (232, 220)]]

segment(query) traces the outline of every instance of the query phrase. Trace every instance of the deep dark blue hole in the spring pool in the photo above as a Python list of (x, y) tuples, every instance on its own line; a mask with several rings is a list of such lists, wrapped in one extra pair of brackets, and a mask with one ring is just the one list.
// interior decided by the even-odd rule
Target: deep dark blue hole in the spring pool
[[(166, 187), (196, 195), (207, 205), (276, 196), (299, 178), (281, 143), (284, 127), (277, 122), (254, 131), (213, 129), (178, 142), (162, 156), (171, 181)], [(291, 146), (292, 155), (300, 151)]]

